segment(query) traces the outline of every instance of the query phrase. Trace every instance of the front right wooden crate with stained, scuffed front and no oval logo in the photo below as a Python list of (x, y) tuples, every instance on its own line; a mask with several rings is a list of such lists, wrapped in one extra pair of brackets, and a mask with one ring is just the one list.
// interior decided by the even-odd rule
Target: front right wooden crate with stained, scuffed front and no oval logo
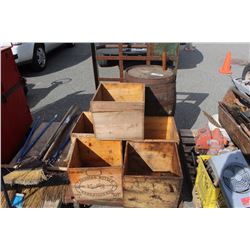
[(128, 141), (123, 177), (124, 207), (177, 207), (182, 170), (177, 144)]

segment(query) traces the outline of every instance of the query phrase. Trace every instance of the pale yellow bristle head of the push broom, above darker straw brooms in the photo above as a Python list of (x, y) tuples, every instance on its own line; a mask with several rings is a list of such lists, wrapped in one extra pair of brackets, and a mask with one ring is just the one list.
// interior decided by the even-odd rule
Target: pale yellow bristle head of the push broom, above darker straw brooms
[(31, 186), (37, 185), (42, 181), (47, 180), (43, 168), (14, 170), (4, 176), (4, 181), (7, 184)]

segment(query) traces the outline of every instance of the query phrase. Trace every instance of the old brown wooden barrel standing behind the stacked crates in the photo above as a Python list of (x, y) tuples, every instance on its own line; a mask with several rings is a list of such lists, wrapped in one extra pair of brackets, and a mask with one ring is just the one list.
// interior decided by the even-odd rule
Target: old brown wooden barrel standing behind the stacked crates
[(159, 65), (137, 65), (127, 68), (126, 82), (145, 83), (145, 115), (174, 115), (176, 104), (176, 75), (172, 69)]

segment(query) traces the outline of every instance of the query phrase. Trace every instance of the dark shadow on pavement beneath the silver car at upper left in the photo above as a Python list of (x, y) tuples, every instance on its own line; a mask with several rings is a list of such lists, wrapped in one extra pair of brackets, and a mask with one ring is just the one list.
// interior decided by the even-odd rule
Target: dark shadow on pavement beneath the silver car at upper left
[(48, 53), (47, 67), (41, 72), (33, 72), (29, 64), (19, 67), (22, 76), (35, 77), (51, 74), (72, 67), (91, 56), (89, 43), (77, 43), (73, 48), (62, 45)]

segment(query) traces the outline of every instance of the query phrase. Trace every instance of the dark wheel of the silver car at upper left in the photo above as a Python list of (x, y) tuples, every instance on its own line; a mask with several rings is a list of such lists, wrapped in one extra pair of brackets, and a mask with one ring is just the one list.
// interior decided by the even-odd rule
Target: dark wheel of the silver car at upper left
[(35, 44), (33, 59), (32, 59), (32, 68), (34, 71), (42, 71), (47, 65), (47, 55), (44, 49), (43, 44)]

